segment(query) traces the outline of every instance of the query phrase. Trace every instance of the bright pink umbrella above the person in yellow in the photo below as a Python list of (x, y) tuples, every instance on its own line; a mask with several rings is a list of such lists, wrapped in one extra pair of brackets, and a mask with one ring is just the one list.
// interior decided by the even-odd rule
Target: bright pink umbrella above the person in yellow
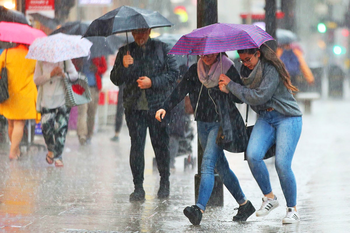
[(46, 34), (42, 30), (26, 24), (0, 22), (0, 41), (31, 44), (36, 38), (45, 36)]

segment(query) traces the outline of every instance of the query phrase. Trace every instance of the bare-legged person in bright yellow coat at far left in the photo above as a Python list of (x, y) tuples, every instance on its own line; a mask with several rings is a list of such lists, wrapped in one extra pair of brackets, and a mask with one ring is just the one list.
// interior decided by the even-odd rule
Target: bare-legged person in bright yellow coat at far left
[(37, 88), (33, 81), (35, 60), (26, 59), (27, 53), (27, 45), (18, 44), (0, 55), (1, 67), (6, 63), (9, 92), (9, 98), (0, 103), (0, 115), (7, 118), (11, 142), (9, 158), (15, 160), (21, 155), (19, 145), (26, 120), (37, 118)]

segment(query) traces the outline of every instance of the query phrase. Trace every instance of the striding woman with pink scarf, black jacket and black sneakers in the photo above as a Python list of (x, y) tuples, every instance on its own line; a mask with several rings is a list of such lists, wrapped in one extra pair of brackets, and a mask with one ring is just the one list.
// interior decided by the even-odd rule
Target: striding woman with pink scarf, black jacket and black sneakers
[(183, 211), (194, 225), (200, 224), (202, 213), (205, 211), (205, 206), (213, 190), (214, 169), (239, 204), (238, 213), (233, 217), (233, 221), (245, 221), (255, 211), (252, 203), (245, 197), (236, 175), (230, 169), (223, 149), (216, 144), (220, 119), (215, 100), (225, 99), (241, 103), (236, 96), (231, 93), (223, 93), (218, 88), (221, 73), (226, 74), (235, 82), (241, 83), (233, 62), (226, 56), (220, 57), (219, 53), (200, 56), (198, 63), (189, 68), (155, 116), (158, 121), (161, 121), (166, 113), (171, 111), (189, 93), (191, 105), (195, 109), (194, 118), (197, 121), (198, 140), (204, 151), (197, 203), (191, 207), (187, 206)]

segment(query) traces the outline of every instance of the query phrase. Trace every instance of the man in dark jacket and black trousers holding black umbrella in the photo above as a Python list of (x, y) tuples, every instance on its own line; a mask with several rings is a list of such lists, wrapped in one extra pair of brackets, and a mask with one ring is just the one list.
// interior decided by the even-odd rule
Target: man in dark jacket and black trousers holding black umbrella
[(151, 29), (132, 30), (134, 42), (119, 49), (111, 81), (125, 83), (125, 119), (131, 137), (130, 167), (135, 186), (130, 201), (144, 201), (145, 141), (147, 128), (160, 174), (159, 198), (169, 196), (169, 136), (166, 121), (156, 111), (172, 92), (179, 75), (175, 57), (166, 43), (149, 38)]

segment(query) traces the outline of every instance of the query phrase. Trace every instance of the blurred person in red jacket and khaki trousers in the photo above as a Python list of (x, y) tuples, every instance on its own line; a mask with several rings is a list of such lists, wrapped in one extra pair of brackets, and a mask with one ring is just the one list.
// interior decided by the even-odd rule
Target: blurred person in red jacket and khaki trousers
[(80, 145), (90, 144), (95, 126), (95, 116), (98, 107), (100, 90), (102, 89), (101, 76), (107, 71), (107, 62), (104, 56), (95, 58), (72, 59), (78, 72), (87, 77), (91, 101), (78, 105), (77, 134)]

